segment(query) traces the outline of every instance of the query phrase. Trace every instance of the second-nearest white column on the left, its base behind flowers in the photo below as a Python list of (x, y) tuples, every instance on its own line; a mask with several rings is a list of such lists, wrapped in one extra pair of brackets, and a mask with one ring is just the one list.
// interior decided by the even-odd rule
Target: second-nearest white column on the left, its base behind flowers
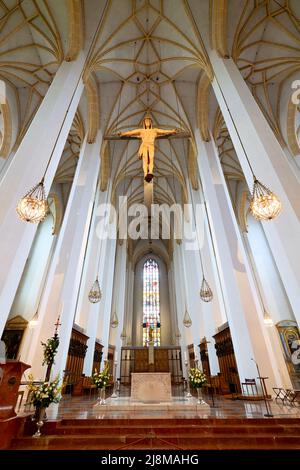
[(87, 144), (87, 138), (85, 138), (81, 148), (63, 224), (39, 309), (39, 328), (36, 328), (36, 341), (35, 344), (32, 344), (32, 356), (29, 359), (34, 374), (41, 370), (42, 348), (40, 341), (45, 341), (52, 336), (53, 325), (59, 313), (61, 315), (60, 344), (52, 373), (53, 375), (60, 373), (62, 377), (62, 372), (65, 369), (95, 201), (101, 142), (102, 134), (99, 131), (94, 144)]

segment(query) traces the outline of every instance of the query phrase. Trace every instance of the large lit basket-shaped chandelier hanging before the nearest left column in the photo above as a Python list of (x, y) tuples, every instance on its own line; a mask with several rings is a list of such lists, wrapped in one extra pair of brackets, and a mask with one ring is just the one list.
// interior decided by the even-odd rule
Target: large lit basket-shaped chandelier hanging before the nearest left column
[(17, 214), (21, 220), (37, 224), (44, 220), (49, 212), (45, 195), (44, 178), (19, 200)]

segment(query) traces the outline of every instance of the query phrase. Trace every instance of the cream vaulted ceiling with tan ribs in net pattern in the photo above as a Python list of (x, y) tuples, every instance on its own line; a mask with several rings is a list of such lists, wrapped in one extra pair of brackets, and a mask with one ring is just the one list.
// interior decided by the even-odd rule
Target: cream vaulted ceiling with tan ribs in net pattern
[[(84, 76), (86, 93), (56, 175), (70, 184), (85, 132), (93, 142), (141, 126), (181, 128), (190, 139), (157, 142), (154, 201), (188, 199), (198, 185), (193, 129), (217, 141), (231, 192), (241, 169), (211, 90), (208, 52), (232, 57), (283, 147), (299, 149), (299, 108), (284, 109), (289, 81), (300, 68), (298, 0), (0, 0), (0, 79), (13, 90), (20, 142), (62, 60), (74, 60), (96, 13), (104, 10)], [(98, 15), (100, 17), (100, 15)], [(2, 108), (1, 156), (11, 148)], [(6, 129), (6, 131), (5, 131)], [(298, 134), (297, 134), (298, 133)], [(5, 142), (6, 139), (6, 142)], [(4, 145), (5, 144), (5, 145)], [(136, 141), (106, 140), (101, 189), (142, 202), (143, 172)], [(235, 183), (234, 183), (235, 182)]]

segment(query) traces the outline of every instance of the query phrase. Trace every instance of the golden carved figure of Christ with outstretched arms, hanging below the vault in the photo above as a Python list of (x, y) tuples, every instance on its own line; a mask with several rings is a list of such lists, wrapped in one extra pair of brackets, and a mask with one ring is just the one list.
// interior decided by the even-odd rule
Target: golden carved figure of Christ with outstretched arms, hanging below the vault
[(122, 132), (121, 137), (138, 137), (142, 140), (139, 148), (139, 158), (143, 160), (144, 177), (147, 183), (153, 178), (154, 165), (154, 142), (155, 139), (162, 135), (178, 134), (180, 129), (157, 129), (152, 127), (152, 120), (146, 117), (143, 121), (142, 129), (134, 129), (133, 131)]

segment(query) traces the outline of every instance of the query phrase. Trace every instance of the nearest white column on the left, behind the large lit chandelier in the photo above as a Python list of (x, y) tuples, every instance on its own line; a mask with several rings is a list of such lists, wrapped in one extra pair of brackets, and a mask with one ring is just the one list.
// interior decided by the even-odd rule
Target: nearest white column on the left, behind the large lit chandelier
[(61, 64), (0, 184), (0, 333), (37, 228), (18, 218), (16, 206), (39, 183), (52, 155), (45, 178), (49, 192), (82, 94), (83, 65), (83, 54)]

